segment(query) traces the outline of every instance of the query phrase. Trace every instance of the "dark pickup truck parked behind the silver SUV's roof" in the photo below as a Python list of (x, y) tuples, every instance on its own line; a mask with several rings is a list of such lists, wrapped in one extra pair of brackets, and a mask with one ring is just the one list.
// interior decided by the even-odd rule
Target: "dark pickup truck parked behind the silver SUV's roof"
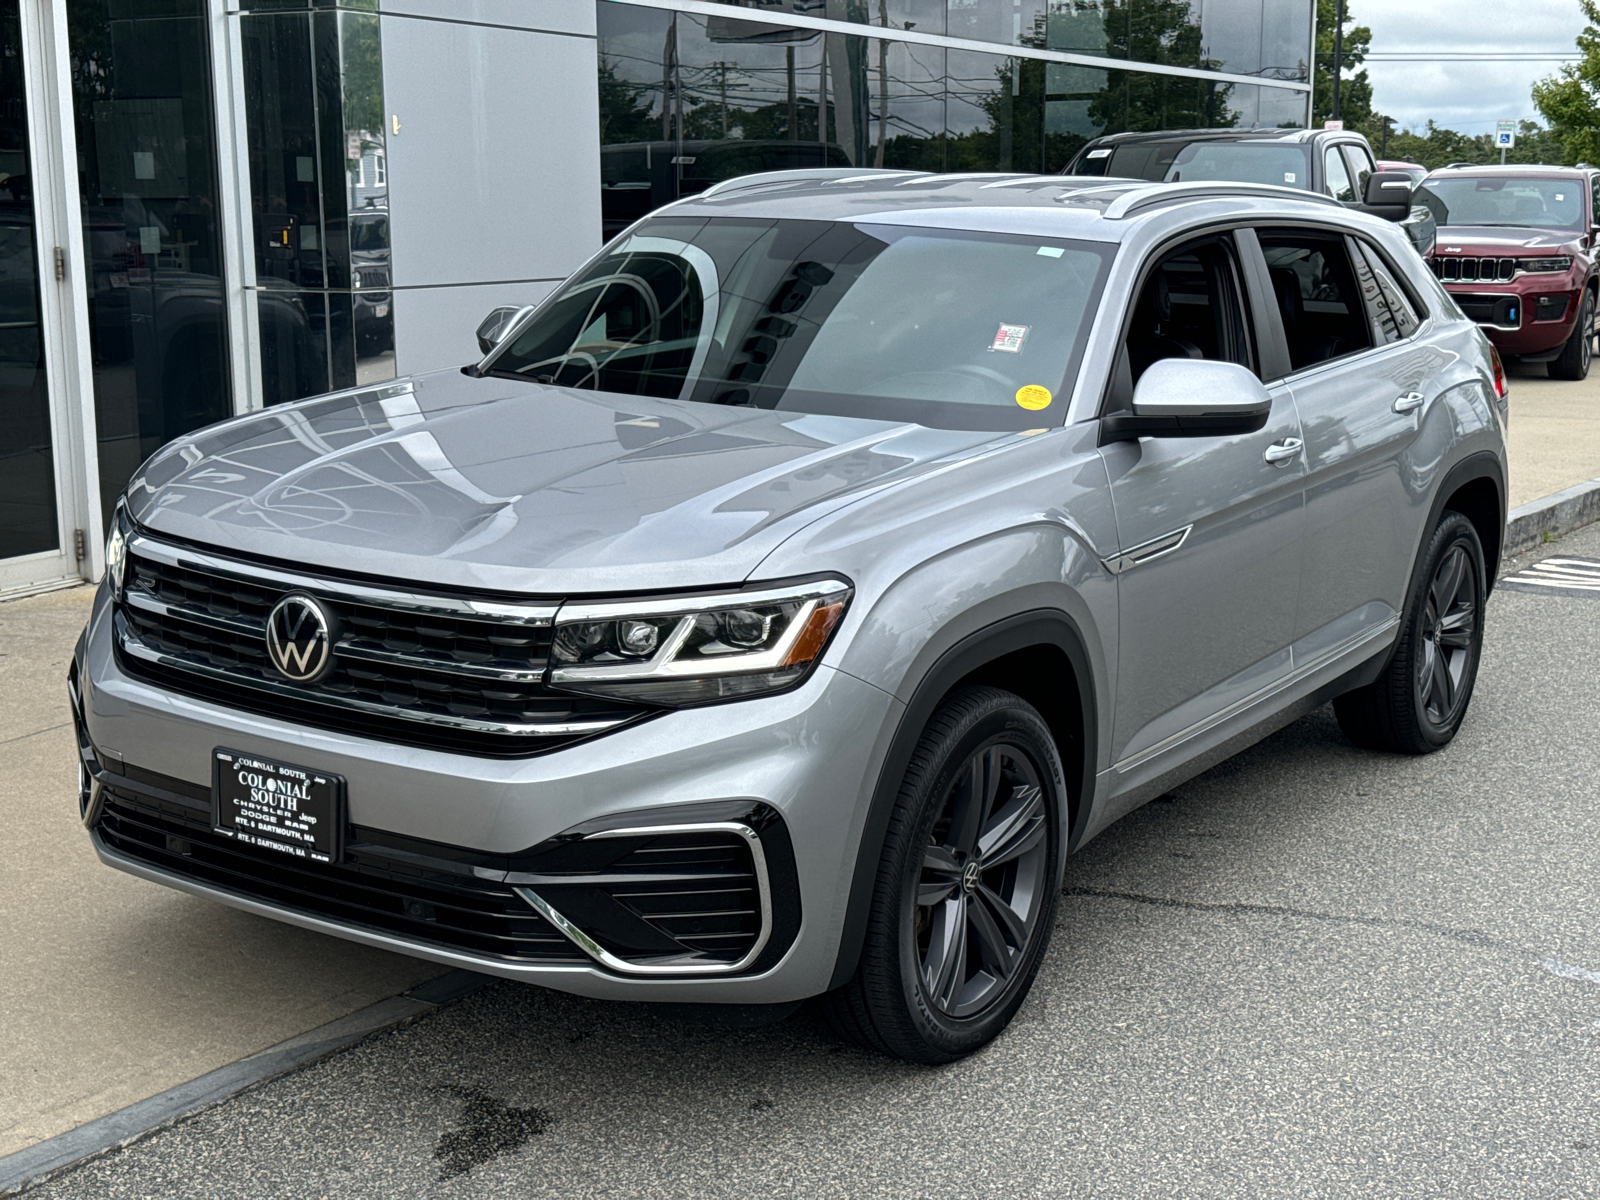
[[(1406, 165), (1406, 174), (1413, 166)], [(1062, 174), (1163, 182), (1234, 179), (1322, 192), (1346, 208), (1398, 221), (1422, 258), (1434, 253), (1434, 218), (1410, 203), (1414, 181), (1379, 178), (1373, 147), (1350, 130), (1110, 133), (1078, 150)]]

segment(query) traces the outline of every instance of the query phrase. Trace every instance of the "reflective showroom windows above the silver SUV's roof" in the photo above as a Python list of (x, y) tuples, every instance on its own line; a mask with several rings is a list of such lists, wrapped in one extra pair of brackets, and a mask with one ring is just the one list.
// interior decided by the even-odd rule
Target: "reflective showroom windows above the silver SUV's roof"
[[(1051, 0), (1048, 10), (1024, 3), (1008, 11), (1022, 10), (1032, 13), (1014, 38), (1022, 45), (1218, 66), (1205, 54), (1203, 29), (1194, 19), (1198, 0)], [(882, 24), (869, 18), (886, 13), (896, 27), (910, 11), (827, 0), (826, 14)], [(958, 32), (958, 13), (976, 19), (979, 11), (989, 11), (982, 0), (971, 8), (952, 0), (950, 30)], [(1102, 133), (1232, 128), (1262, 114), (1272, 123), (1294, 123), (1306, 107), (1302, 93), (1277, 88), (786, 29), (736, 16), (616, 3), (598, 5), (597, 16), (606, 237), (738, 174), (790, 166), (1056, 173)], [(1270, 104), (1262, 107), (1267, 93)]]

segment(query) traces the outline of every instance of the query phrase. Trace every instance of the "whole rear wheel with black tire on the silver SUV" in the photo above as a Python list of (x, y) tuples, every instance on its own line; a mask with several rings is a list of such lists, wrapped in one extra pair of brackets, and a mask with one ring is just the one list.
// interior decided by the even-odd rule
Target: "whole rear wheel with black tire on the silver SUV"
[(1384, 674), (1333, 701), (1357, 746), (1432, 754), (1467, 715), (1483, 653), (1486, 573), (1478, 531), (1459, 512), (1440, 517), (1421, 579)]

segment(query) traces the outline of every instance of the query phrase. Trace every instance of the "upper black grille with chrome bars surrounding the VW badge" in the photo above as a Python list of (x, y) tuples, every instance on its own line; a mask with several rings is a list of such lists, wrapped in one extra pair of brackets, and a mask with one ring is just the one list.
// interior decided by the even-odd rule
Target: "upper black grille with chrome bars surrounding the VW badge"
[[(267, 611), (306, 592), (333, 613), (333, 667), (293, 683), (267, 659)], [(526, 755), (643, 715), (544, 683), (549, 610), (381, 592), (136, 538), (115, 614), (128, 674), (198, 699), (341, 733)]]

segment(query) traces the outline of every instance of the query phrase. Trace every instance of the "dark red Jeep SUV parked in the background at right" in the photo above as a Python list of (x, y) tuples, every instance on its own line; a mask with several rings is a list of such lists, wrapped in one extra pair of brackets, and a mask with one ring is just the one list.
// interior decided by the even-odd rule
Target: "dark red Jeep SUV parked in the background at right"
[(1594, 358), (1600, 173), (1448, 166), (1418, 200), (1438, 222), (1434, 274), (1507, 357), (1582, 379)]

